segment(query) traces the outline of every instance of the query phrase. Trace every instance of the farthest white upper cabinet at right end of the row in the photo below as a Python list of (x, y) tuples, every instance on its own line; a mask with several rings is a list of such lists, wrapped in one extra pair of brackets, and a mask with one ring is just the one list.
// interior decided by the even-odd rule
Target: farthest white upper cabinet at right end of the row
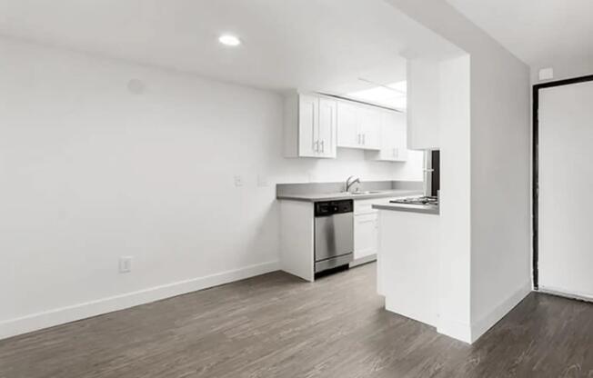
[(367, 152), (367, 156), (384, 162), (407, 161), (406, 114), (385, 111), (381, 115), (381, 149), (378, 152)]

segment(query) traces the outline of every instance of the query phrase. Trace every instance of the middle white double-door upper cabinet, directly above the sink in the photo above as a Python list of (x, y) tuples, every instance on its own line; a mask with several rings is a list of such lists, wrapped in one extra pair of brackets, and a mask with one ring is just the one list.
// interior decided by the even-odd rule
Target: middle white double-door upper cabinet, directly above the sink
[(378, 150), (381, 141), (381, 110), (340, 101), (337, 104), (337, 146)]

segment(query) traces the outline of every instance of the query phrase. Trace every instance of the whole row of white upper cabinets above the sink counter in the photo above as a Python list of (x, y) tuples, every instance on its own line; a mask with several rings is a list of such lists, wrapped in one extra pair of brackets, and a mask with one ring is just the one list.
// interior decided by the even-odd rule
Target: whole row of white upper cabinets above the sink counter
[(406, 114), (324, 94), (290, 94), (284, 105), (286, 157), (336, 158), (337, 147), (367, 160), (407, 160)]

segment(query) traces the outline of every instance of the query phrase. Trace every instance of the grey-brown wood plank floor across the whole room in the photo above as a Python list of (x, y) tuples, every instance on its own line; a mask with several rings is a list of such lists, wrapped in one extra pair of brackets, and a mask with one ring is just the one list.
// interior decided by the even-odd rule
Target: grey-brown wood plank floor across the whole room
[(384, 311), (375, 269), (266, 274), (17, 336), (0, 377), (593, 377), (593, 304), (532, 293), (469, 346)]

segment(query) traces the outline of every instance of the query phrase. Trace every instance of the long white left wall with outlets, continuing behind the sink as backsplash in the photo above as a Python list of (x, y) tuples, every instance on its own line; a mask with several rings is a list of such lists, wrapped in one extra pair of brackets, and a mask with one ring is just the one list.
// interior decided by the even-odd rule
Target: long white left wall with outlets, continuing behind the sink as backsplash
[(422, 178), (421, 157), (282, 158), (278, 94), (10, 40), (0, 56), (0, 338), (275, 270), (276, 183)]

